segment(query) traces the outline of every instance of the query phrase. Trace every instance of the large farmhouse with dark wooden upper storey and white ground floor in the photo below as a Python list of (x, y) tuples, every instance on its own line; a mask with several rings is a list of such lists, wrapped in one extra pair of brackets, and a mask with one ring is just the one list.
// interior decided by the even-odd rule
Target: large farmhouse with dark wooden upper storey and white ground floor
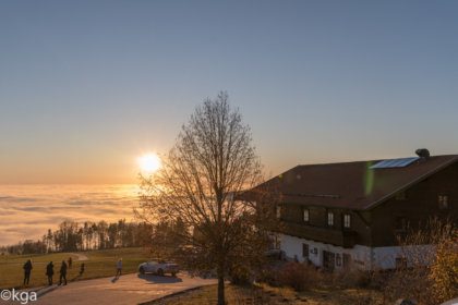
[(298, 166), (278, 184), (287, 257), (328, 269), (395, 268), (396, 235), (429, 218), (458, 220), (458, 155)]

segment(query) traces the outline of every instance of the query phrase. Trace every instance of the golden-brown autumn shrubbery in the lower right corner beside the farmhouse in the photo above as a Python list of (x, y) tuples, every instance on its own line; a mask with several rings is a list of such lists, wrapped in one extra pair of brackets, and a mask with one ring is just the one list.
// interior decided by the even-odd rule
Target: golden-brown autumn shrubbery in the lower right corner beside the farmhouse
[(433, 305), (458, 296), (457, 240), (456, 225), (436, 218), (423, 229), (409, 231), (399, 240), (408, 264), (391, 272), (379, 273), (376, 279), (385, 300), (394, 302), (408, 297), (419, 304)]

